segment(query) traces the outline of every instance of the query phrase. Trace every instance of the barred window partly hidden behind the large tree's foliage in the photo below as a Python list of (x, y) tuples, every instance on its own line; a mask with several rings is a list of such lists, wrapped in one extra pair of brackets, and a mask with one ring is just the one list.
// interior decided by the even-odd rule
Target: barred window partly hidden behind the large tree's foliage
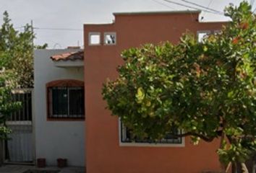
[[(179, 134), (181, 133), (181, 130), (175, 129), (172, 131), (172, 133)], [(123, 123), (120, 122), (120, 141), (123, 144), (139, 144), (139, 145), (145, 145), (145, 144), (157, 144), (157, 145), (163, 145), (163, 144), (177, 144), (177, 146), (183, 146), (184, 145), (184, 138), (182, 137), (175, 137), (171, 135), (171, 133), (168, 133), (165, 138), (160, 139), (159, 141), (152, 141), (150, 139), (139, 139), (139, 138), (132, 138), (132, 134), (129, 131), (128, 128), (124, 126)]]

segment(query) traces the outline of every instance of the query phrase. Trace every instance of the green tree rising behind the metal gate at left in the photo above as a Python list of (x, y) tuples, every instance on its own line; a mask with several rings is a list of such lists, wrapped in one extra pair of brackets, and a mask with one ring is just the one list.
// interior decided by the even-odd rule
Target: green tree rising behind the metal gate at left
[(22, 32), (14, 29), (9, 14), (4, 12), (0, 27), (0, 68), (4, 68), (10, 82), (16, 87), (33, 87), (33, 49), (46, 48), (33, 45), (33, 26), (25, 25)]

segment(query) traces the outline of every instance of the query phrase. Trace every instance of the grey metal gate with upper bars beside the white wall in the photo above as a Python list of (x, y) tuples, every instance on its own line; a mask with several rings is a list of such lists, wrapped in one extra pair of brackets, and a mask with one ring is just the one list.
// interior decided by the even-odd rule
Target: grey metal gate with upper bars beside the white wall
[(33, 163), (33, 89), (14, 89), (12, 99), (22, 102), (22, 108), (13, 112), (7, 121), (11, 138), (5, 141), (4, 158), (9, 163)]

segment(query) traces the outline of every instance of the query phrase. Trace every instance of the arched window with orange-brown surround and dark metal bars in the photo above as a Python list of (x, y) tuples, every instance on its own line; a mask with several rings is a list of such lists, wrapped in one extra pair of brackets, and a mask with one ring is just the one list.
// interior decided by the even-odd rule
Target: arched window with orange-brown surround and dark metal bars
[(82, 81), (62, 80), (47, 84), (48, 118), (84, 118), (85, 90)]

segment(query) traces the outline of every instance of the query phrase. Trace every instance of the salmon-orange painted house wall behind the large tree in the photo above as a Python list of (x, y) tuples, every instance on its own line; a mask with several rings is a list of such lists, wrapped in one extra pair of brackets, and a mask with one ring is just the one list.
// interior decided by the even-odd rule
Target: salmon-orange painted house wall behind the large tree
[[(196, 173), (218, 170), (218, 141), (184, 147), (119, 146), (117, 117), (106, 110), (101, 89), (116, 78), (124, 48), (169, 40), (177, 43), (187, 29), (219, 30), (223, 23), (197, 22), (198, 13), (116, 14), (114, 24), (85, 25), (85, 115), (88, 173)], [(88, 45), (88, 33), (116, 32), (116, 45)]]

